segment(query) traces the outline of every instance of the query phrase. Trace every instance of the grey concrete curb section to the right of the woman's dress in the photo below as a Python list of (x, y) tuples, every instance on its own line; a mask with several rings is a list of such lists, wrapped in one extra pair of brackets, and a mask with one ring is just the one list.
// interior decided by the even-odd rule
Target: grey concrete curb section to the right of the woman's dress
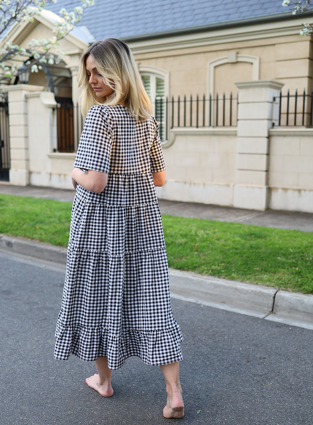
[(274, 322), (313, 329), (313, 295), (169, 270), (172, 296)]

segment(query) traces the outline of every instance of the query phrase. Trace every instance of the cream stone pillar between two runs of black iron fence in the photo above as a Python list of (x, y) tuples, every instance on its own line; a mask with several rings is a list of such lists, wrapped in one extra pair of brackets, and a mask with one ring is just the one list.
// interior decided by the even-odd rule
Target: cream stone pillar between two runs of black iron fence
[(237, 173), (234, 207), (265, 210), (268, 207), (268, 131), (278, 119), (283, 84), (272, 80), (235, 83), (239, 89)]

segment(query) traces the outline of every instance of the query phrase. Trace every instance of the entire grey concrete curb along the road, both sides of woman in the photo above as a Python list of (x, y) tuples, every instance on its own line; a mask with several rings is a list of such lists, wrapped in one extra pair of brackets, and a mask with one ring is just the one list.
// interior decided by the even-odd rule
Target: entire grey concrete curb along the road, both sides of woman
[[(66, 264), (67, 249), (0, 234), (0, 251)], [(169, 269), (171, 295), (266, 320), (313, 329), (313, 295)]]

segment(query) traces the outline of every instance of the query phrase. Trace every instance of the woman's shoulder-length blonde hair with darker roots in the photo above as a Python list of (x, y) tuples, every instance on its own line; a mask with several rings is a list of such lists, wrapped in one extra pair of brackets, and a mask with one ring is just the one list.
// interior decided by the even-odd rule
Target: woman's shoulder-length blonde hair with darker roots
[[(86, 60), (91, 55), (97, 72), (105, 84), (113, 90), (110, 96), (99, 102), (89, 84)], [(152, 104), (144, 89), (138, 67), (128, 45), (117, 38), (106, 38), (90, 45), (79, 58), (78, 85), (82, 87), (80, 107), (87, 115), (93, 105), (117, 105), (123, 102), (137, 121), (144, 121), (152, 115)]]

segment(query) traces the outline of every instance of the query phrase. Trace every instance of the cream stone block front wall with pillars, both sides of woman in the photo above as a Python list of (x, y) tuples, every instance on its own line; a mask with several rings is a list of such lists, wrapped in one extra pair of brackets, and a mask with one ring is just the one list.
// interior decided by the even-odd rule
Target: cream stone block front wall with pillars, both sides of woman
[[(237, 83), (237, 127), (175, 127), (159, 198), (313, 212), (313, 129), (273, 129), (276, 81)], [(56, 102), (40, 86), (9, 91), (10, 183), (71, 189), (75, 153), (54, 152)]]

